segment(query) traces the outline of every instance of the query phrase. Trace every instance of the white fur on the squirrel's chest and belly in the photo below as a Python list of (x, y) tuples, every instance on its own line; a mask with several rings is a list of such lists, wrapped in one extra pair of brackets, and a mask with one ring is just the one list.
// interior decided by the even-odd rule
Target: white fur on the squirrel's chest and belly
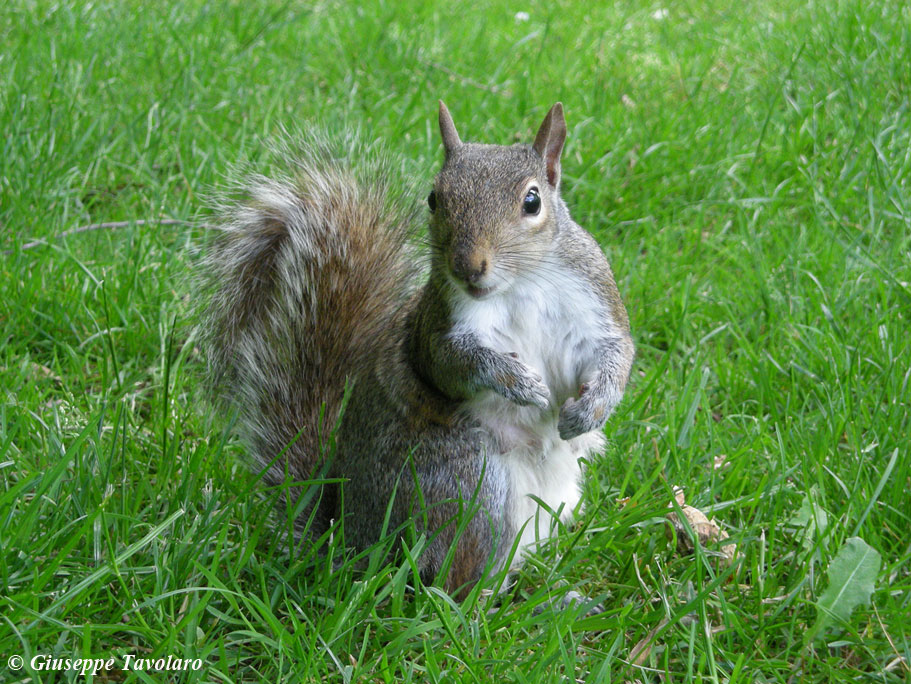
[[(578, 274), (548, 269), (546, 277), (520, 278), (507, 292), (473, 300), (463, 295), (455, 307), (454, 331), (472, 332), (482, 344), (515, 352), (550, 389), (550, 406), (519, 406), (485, 391), (468, 411), (504, 445), (496, 458), (510, 474), (515, 532), (520, 549), (550, 536), (554, 520), (532, 497), (568, 521), (581, 496), (579, 459), (603, 448), (600, 431), (564, 441), (557, 431), (560, 407), (579, 393), (594, 368), (596, 343), (608, 324), (604, 305)], [(518, 559), (517, 559), (518, 560)]]

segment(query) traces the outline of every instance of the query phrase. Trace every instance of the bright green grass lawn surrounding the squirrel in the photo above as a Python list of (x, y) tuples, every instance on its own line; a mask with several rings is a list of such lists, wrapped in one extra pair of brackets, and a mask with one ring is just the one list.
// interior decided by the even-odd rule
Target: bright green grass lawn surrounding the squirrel
[[(133, 653), (203, 666), (95, 681), (911, 682), (911, 9), (661, 8), (3, 3), (0, 680)], [(192, 334), (235, 160), (322, 121), (429, 185), (440, 97), (488, 142), (563, 101), (639, 350), (581, 522), (499, 604), (284, 544)], [(667, 540), (673, 486), (734, 565)], [(852, 536), (872, 603), (806, 644)], [(605, 612), (533, 612), (569, 586)]]

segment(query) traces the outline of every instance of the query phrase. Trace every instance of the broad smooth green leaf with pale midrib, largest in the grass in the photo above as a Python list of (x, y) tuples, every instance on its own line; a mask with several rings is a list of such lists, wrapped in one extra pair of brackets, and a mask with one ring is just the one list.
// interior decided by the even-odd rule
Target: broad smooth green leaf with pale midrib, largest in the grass
[(870, 602), (881, 565), (879, 552), (860, 537), (845, 542), (829, 563), (829, 586), (816, 602), (819, 614), (807, 643), (823, 634), (833, 620), (847, 622), (858, 605)]

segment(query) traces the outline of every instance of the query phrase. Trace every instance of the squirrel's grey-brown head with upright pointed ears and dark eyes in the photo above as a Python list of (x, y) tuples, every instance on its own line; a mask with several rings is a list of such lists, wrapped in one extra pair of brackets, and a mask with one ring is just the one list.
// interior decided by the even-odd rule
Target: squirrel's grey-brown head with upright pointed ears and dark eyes
[(463, 143), (440, 102), (446, 160), (427, 197), (435, 268), (481, 299), (537, 266), (557, 234), (563, 105), (547, 113), (531, 145)]

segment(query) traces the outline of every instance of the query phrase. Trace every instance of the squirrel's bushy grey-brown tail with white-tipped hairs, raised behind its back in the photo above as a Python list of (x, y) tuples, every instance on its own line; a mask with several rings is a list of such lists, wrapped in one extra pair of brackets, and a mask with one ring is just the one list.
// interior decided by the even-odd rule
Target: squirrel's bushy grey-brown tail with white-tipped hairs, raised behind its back
[(405, 208), (415, 203), (395, 197), (388, 163), (361, 166), (354, 147), (343, 154), (357, 172), (326, 144), (284, 143), (274, 148), (282, 170), (246, 175), (216, 201), (221, 234), (204, 268), (209, 372), (256, 463), (272, 464), (270, 484), (318, 473), (346, 382), (416, 280), (417, 210)]

